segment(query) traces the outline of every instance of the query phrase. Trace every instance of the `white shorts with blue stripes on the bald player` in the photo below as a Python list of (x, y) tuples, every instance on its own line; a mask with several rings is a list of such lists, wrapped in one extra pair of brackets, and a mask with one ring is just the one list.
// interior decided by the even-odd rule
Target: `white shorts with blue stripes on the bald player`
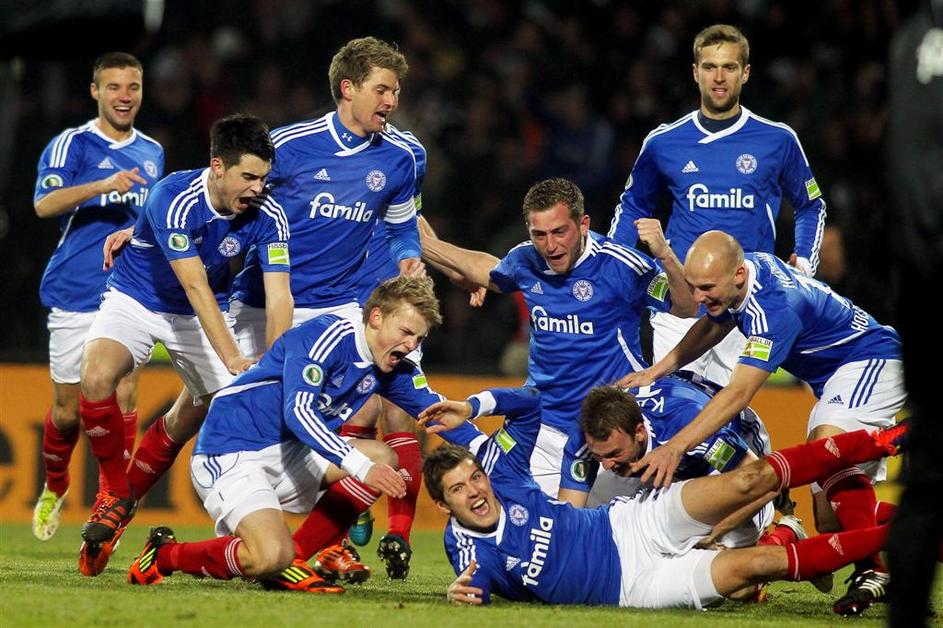
[[(907, 401), (904, 364), (901, 360), (862, 360), (842, 365), (828, 378), (822, 396), (812, 407), (808, 433), (820, 425), (845, 431), (875, 430), (894, 424), (894, 417)], [(887, 460), (858, 467), (873, 482), (887, 478)], [(819, 492), (818, 484), (812, 486)]]

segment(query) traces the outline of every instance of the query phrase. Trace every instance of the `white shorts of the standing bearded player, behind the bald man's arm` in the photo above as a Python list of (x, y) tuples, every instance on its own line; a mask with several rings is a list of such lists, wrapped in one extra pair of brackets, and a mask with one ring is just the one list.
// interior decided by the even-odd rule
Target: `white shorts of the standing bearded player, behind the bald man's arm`
[[(665, 357), (675, 348), (684, 335), (694, 326), (696, 318), (678, 318), (668, 312), (652, 312), (651, 322), (653, 330), (652, 353), (655, 362)], [(704, 355), (694, 362), (686, 364), (679, 370), (697, 373), (704, 379), (715, 384), (726, 386), (730, 383), (730, 374), (737, 365), (740, 354), (747, 339), (736, 327)]]

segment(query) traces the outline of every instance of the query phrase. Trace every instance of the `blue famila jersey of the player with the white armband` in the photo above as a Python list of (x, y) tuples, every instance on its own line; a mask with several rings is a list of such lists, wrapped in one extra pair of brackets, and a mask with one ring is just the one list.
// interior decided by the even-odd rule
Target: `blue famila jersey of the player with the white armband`
[[(395, 129), (366, 138), (336, 115), (272, 132), (272, 196), (291, 226), (291, 293), (295, 307), (320, 308), (357, 299), (357, 282), (374, 227), (386, 226), (394, 260), (418, 257), (415, 138)], [(418, 149), (416, 149), (418, 150)], [(255, 256), (237, 277), (233, 298), (264, 307)]]

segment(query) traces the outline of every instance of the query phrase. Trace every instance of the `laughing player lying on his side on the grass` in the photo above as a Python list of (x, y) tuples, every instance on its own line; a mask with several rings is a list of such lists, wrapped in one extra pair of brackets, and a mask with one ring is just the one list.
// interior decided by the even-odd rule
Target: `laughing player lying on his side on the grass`
[[(491, 411), (515, 416), (517, 402), (503, 397), (493, 396)], [(530, 413), (470, 442), (475, 453), (450, 443), (423, 463), (426, 489), (450, 516), (445, 549), (458, 575), (448, 587), (454, 603), (487, 604), (499, 595), (549, 604), (700, 609), (758, 583), (829, 573), (877, 551), (884, 526), (785, 546), (696, 546), (716, 526), (783, 488), (896, 454), (907, 428), (837, 434), (728, 473), (589, 510), (553, 500), (531, 481), (529, 448), (537, 429), (537, 415)]]

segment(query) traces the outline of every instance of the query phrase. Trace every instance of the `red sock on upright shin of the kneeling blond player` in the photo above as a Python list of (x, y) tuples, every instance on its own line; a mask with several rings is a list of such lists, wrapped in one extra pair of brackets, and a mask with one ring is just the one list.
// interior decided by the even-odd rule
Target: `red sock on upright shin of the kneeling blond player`
[(346, 477), (331, 484), (292, 538), (295, 557), (308, 560), (325, 547), (341, 542), (357, 516), (373, 505), (380, 494), (366, 484)]

